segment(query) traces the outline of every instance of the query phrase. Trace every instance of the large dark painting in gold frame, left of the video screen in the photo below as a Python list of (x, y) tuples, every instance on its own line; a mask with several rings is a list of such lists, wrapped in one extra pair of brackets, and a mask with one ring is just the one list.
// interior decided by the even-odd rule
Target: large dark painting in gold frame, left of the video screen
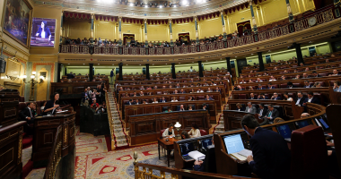
[(31, 13), (29, 6), (23, 0), (7, 0), (4, 8), (4, 30), (27, 46)]

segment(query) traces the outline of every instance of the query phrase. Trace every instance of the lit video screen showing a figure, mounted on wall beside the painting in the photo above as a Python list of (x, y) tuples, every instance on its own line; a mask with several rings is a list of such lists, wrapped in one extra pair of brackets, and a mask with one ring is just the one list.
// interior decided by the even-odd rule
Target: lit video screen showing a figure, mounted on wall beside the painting
[(56, 20), (33, 18), (31, 47), (55, 47)]

